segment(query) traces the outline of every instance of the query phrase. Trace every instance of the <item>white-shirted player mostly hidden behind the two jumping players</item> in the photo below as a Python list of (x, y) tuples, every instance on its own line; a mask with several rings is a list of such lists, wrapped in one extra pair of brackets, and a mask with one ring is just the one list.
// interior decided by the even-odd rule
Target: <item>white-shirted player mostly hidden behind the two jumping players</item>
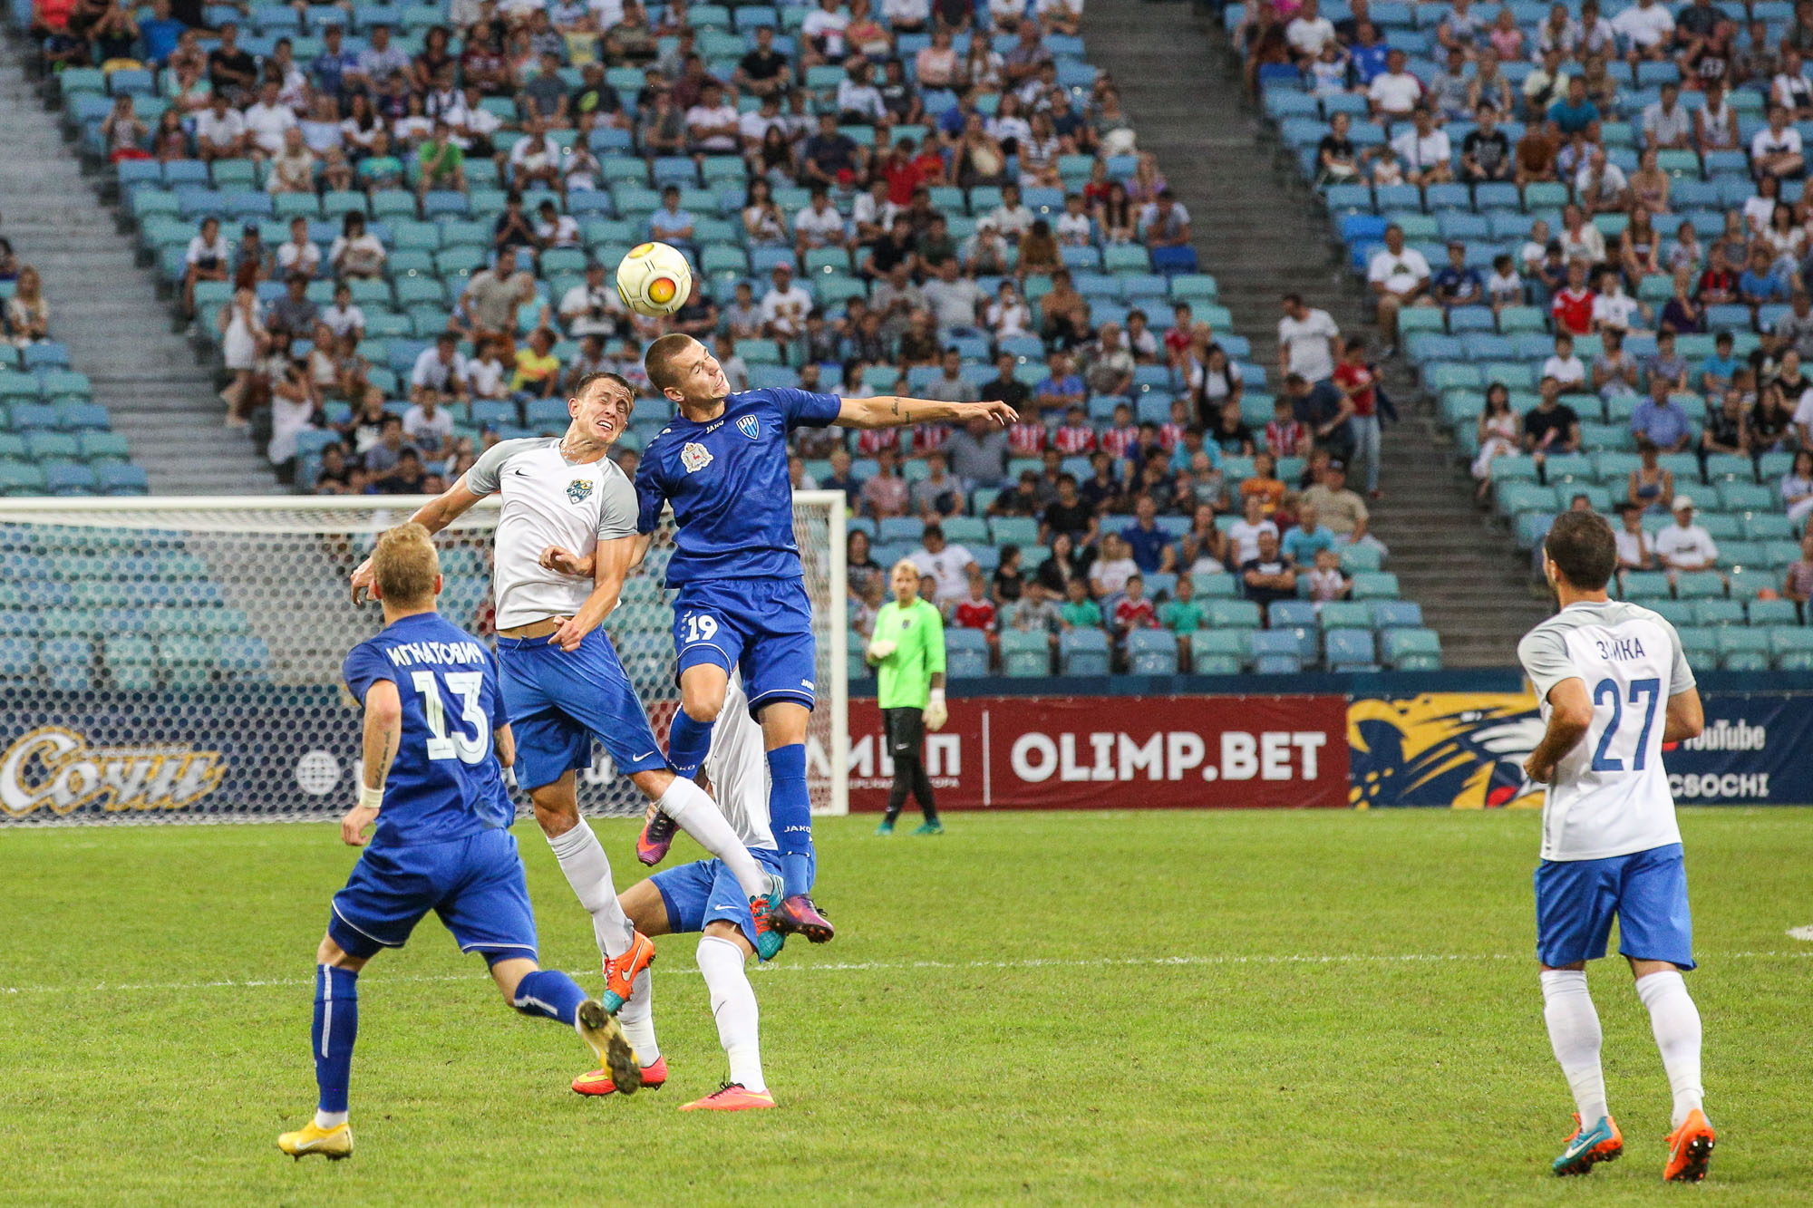
[[(749, 698), (736, 673), (731, 675), (723, 715), (713, 727), (703, 767), (718, 807), (738, 836), (763, 867), (780, 871), (780, 851), (769, 825), (769, 762), (761, 726), (749, 716)], [(705, 932), (698, 941), (698, 969), (705, 974), (711, 1014), (718, 1021), (718, 1041), (729, 1057), (731, 1077), (716, 1094), (680, 1110), (743, 1112), (774, 1106), (774, 1096), (761, 1076), (756, 992), (743, 970), (756, 950), (754, 920), (723, 862), (700, 860), (656, 872), (625, 889), (620, 901), (624, 914), (644, 934)], [(642, 1086), (649, 1090), (667, 1081), (667, 1059), (654, 1043), (653, 976), (653, 970), (645, 970), (636, 978), (635, 992), (618, 1012), (624, 1036), (642, 1063)], [(609, 1070), (598, 1068), (575, 1077), (573, 1090), (607, 1096), (616, 1085)]]

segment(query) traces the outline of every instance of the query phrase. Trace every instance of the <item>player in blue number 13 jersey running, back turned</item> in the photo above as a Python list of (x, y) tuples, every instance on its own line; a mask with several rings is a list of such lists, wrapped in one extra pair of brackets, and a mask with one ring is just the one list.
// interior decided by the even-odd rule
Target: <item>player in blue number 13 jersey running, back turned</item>
[(341, 820), (341, 840), (370, 847), (334, 894), (315, 952), (310, 1050), (321, 1099), (315, 1117), (277, 1137), (290, 1157), (352, 1154), (346, 1083), (359, 1032), (359, 970), (379, 949), (401, 949), (428, 911), (462, 952), (480, 952), (504, 1001), (578, 1030), (622, 1090), (642, 1067), (602, 1003), (535, 961), (535, 912), (509, 834), (515, 805), (504, 767), (515, 738), (497, 686), (497, 660), (435, 611), (441, 564), (421, 524), (377, 541), (372, 589), (384, 629), (346, 657), (346, 687), (364, 707), (364, 780)]

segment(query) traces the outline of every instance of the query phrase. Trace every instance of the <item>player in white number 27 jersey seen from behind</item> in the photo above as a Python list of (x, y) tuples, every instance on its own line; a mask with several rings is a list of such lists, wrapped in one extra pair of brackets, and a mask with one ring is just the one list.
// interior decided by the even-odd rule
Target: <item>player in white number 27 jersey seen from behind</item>
[(1693, 969), (1693, 920), (1663, 744), (1704, 726), (1681, 637), (1663, 617), (1606, 597), (1617, 539), (1605, 517), (1565, 511), (1543, 542), (1561, 611), (1530, 629), (1517, 658), (1541, 702), (1543, 740), (1523, 769), (1548, 785), (1536, 869), (1536, 958), (1543, 1018), (1574, 1090), (1575, 1130), (1557, 1175), (1590, 1174), (1624, 1152), (1605, 1099), (1599, 1014), (1586, 961), (1619, 952), (1663, 1052), (1673, 1092), (1663, 1177), (1706, 1177), (1713, 1130), (1701, 1086), (1701, 1019), (1681, 974)]

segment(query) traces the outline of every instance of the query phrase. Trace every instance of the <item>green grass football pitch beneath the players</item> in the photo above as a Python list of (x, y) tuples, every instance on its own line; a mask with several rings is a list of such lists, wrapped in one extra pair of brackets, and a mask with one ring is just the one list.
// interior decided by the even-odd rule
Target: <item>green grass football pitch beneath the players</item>
[[(1548, 1175), (1572, 1123), (1530, 954), (1536, 813), (948, 823), (821, 822), (839, 938), (754, 976), (774, 1112), (676, 1112), (723, 1076), (691, 938), (654, 965), (673, 1079), (595, 1101), (567, 1090), (577, 1038), (504, 1008), (426, 920), (361, 979), (335, 1164), (272, 1145), (314, 1106), (314, 947), (354, 862), (330, 825), (0, 833), (0, 1199), (1813, 1203), (1813, 945), (1786, 934), (1813, 923), (1813, 811), (1682, 811), (1719, 1126), (1699, 1188), (1661, 1184), (1668, 1085), (1615, 960), (1590, 978), (1626, 1155)], [(517, 834), (544, 961), (595, 969)], [(631, 823), (600, 834), (640, 876)]]

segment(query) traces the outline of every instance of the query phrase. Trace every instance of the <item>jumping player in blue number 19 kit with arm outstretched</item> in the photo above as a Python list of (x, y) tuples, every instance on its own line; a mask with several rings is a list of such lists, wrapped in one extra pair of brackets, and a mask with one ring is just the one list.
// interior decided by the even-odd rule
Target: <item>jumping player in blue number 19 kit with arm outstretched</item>
[[(805, 784), (805, 727), (814, 704), (812, 600), (792, 528), (787, 434), (794, 428), (903, 428), (928, 421), (1017, 419), (1006, 403), (937, 403), (881, 395), (839, 399), (805, 390), (731, 394), (718, 359), (678, 332), (642, 357), (649, 381), (678, 415), (642, 450), (636, 530), (649, 539), (662, 506), (674, 510), (667, 586), (674, 600), (680, 713), (667, 762), (698, 773), (711, 726), (740, 667), (749, 711), (761, 722), (772, 791), (769, 814), (780, 843), (787, 898), (774, 925), (812, 943), (832, 927), (809, 894), (812, 807)], [(642, 858), (660, 858), (662, 836), (644, 834)]]

